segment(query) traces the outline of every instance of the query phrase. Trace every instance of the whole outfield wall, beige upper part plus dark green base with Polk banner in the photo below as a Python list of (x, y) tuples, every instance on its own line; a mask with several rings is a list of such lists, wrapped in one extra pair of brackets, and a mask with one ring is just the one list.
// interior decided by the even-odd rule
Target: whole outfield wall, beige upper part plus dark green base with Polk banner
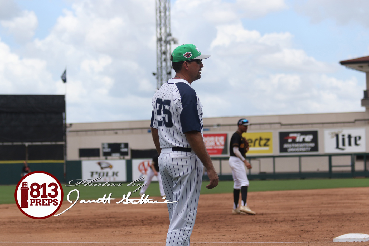
[[(223, 180), (231, 179), (229, 142), (240, 118), (251, 122), (245, 135), (250, 179), (369, 176), (367, 112), (204, 118), (204, 139)], [(149, 125), (149, 120), (68, 124), (66, 175), (61, 160), (34, 160), (31, 170), (48, 171), (61, 182), (145, 177), (155, 153)], [(125, 156), (106, 156), (107, 144), (114, 143), (128, 144)], [(22, 162), (0, 161), (0, 172), (7, 174), (1, 184), (20, 179)]]

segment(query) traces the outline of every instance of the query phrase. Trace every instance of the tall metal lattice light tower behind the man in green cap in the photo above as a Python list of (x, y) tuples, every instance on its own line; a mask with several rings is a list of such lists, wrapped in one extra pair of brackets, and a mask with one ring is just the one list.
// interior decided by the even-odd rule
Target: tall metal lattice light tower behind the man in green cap
[(177, 40), (170, 33), (170, 2), (169, 0), (155, 0), (156, 9), (156, 89), (168, 81), (172, 73), (170, 63), (171, 48)]

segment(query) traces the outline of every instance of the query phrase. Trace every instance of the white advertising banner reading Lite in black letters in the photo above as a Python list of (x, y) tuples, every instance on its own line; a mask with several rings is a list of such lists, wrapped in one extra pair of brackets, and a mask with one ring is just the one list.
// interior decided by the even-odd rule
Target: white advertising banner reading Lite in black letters
[(365, 128), (324, 130), (325, 153), (365, 152)]

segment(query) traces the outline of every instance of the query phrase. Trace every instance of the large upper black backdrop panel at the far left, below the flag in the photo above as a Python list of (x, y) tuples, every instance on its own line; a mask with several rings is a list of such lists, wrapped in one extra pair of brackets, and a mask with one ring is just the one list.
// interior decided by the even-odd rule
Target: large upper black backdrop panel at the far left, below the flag
[(60, 95), (0, 95), (0, 142), (64, 141)]

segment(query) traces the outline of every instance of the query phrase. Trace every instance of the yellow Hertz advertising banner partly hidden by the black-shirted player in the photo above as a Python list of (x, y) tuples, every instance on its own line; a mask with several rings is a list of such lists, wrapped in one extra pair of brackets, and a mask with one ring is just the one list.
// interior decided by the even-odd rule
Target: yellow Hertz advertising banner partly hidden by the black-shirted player
[(272, 132), (251, 132), (242, 134), (249, 143), (249, 151), (246, 155), (252, 154), (273, 154), (273, 133)]

